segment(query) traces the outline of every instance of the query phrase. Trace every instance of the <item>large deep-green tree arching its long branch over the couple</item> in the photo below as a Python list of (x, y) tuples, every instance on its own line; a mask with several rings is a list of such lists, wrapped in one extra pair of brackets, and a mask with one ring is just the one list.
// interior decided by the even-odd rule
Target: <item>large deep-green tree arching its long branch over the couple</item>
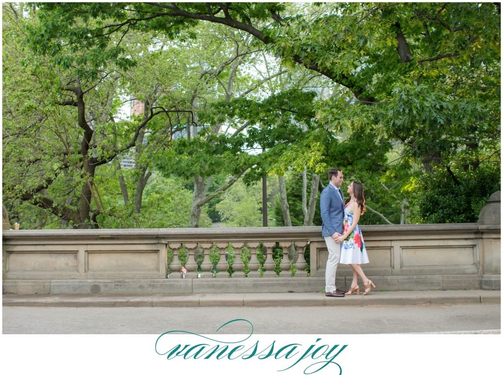
[[(295, 118), (289, 112), (291, 109), (273, 109), (275, 102), (279, 103), (281, 99), (280, 91), (286, 93), (288, 90), (294, 102), (301, 94), (294, 93), (293, 87), (280, 91), (269, 87), (266, 95), (255, 97), (255, 103), (269, 106), (264, 112), (269, 111), (270, 115), (264, 119), (271, 123), (264, 119), (257, 121), (255, 131), (253, 127), (249, 128), (248, 142), (251, 145), (254, 141), (268, 152), (256, 156), (257, 160), (253, 161), (241, 153), (238, 163), (232, 164), (240, 166), (239, 170), (224, 173), (234, 178), (243, 170), (247, 171), (247, 180), (254, 180), (269, 172), (284, 175), (288, 168), (302, 171), (305, 166), (315, 175), (324, 172), (328, 166), (337, 165), (351, 169), (357, 176), (365, 177), (365, 173), (369, 173), (369, 186), (376, 188), (369, 193), (381, 196), (391, 189), (392, 194), (388, 196), (397, 199), (396, 203), (391, 203), (390, 209), (394, 207), (398, 209), (395, 211), (402, 213), (409, 198), (421, 194), (407, 189), (414, 182), (407, 177), (407, 171), (412, 178), (418, 172), (447, 172), (454, 182), (468, 170), (486, 168), (492, 175), (499, 173), (494, 167), (500, 162), (499, 4), (76, 3), (69, 9), (63, 4), (44, 3), (38, 7), (38, 19), (27, 29), (30, 42), (27, 46), (44, 56), (53, 57), (54, 66), (73, 67), (74, 76), (81, 80), (96, 81), (103, 77), (104, 66), (112, 67), (111, 71), (115, 71), (114, 67), (117, 71), (125, 71), (133, 66), (139, 55), (131, 55), (126, 48), (123, 41), (128, 35), (144, 34), (153, 37), (152, 41), (166, 37), (179, 41), (182, 46), (193, 38), (207, 36), (201, 32), (204, 29), (197, 27), (202, 21), (206, 25), (222, 25), (233, 30), (236, 36), (252, 36), (253, 40), (246, 46), (254, 51), (263, 49), (268, 56), (278, 57), (281, 69), (277, 72), (285, 68), (290, 72), (302, 71), (294, 67), (307, 69), (336, 85), (329, 95), (317, 92), (309, 102), (312, 103), (311, 113), (306, 116), (307, 112), (303, 111), (304, 117), (295, 120), (295, 125), (300, 125), (298, 128), (303, 131), (307, 127), (307, 132), (300, 134), (293, 123), (285, 126), (294, 132), (292, 136), (282, 134), (284, 123), (278, 119), (279, 115), (288, 114), (291, 122)], [(69, 50), (86, 53), (67, 53)], [(222, 48), (222, 51), (226, 49)], [(238, 56), (236, 53), (235, 57)], [(110, 61), (113, 65), (109, 65)], [(232, 59), (228, 61), (232, 61), (229, 64), (234, 67), (241, 63)], [(248, 78), (242, 75), (238, 80), (228, 79), (232, 69), (206, 70), (217, 73), (207, 75), (212, 77), (210, 80), (194, 81), (200, 84), (213, 82), (214, 86), (227, 82), (227, 88), (230, 82), (240, 82), (244, 87), (253, 81), (249, 79), (250, 75)], [(298, 80), (292, 81), (293, 85), (295, 82)], [(318, 82), (314, 86), (321, 87)], [(58, 92), (58, 87), (54, 92)], [(301, 88), (299, 91), (304, 95), (307, 90), (302, 87), (296, 88)], [(240, 94), (244, 91), (246, 89)], [(203, 91), (193, 92), (199, 95)], [(228, 89), (217, 94), (211, 90), (206, 92), (205, 99), (218, 97), (231, 109), (233, 99), (251, 99), (229, 95), (231, 91)], [(46, 97), (50, 98), (44, 93)], [(209, 107), (201, 111), (202, 102), (197, 98), (199, 105), (194, 106), (196, 101), (187, 102), (191, 107), (190, 115), (185, 119), (190, 124), (188, 129), (193, 130), (186, 133), (189, 138), (196, 134), (196, 127), (210, 124), (213, 129), (218, 129), (217, 124), (225, 124), (225, 120), (215, 114), (213, 119), (208, 116), (211, 114)], [(103, 98), (101, 102), (105, 103)], [(38, 106), (37, 103), (35, 107)], [(299, 104), (294, 107), (300, 108)], [(244, 101), (234, 108), (246, 108), (244, 114), (238, 115), (227, 112), (230, 110), (226, 108), (227, 119), (240, 119), (239, 128), (248, 126), (245, 119), (249, 114), (259, 113)], [(196, 121), (190, 122), (194, 115), (197, 115)], [(66, 114), (62, 116), (65, 118)], [(173, 121), (172, 124), (182, 127), (182, 122)], [(276, 136), (286, 142), (273, 142), (269, 148), (264, 145)], [(222, 149), (229, 151), (236, 145), (234, 142), (243, 142), (243, 139), (232, 142), (211, 139), (211, 142), (218, 145), (230, 143)], [(391, 144), (400, 151), (400, 158), (393, 163), (383, 158), (384, 153), (390, 151)], [(196, 142), (195, 146), (199, 147), (199, 144)], [(199, 163), (196, 169), (204, 168)], [(379, 172), (380, 178), (373, 177), (375, 171)], [(205, 186), (209, 185), (206, 178), (195, 180), (197, 193), (193, 200), (193, 217), (197, 217), (198, 207), (208, 202), (206, 198), (215, 197), (206, 195)], [(401, 180), (393, 183), (393, 178)], [(381, 190), (377, 189), (379, 185)], [(371, 198), (381, 207), (387, 206), (385, 199), (373, 195)], [(95, 201), (99, 202), (98, 199)], [(464, 210), (471, 210), (471, 207), (465, 206)], [(402, 220), (400, 218), (400, 222)]]

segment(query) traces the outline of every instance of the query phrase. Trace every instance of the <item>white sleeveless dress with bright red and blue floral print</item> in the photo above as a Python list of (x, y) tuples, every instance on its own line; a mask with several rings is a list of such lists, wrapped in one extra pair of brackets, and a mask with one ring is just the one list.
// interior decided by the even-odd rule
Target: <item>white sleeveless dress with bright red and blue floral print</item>
[[(344, 208), (344, 233), (353, 224), (353, 209), (350, 203)], [(356, 226), (353, 232), (346, 237), (341, 245), (341, 261), (343, 264), (364, 264), (369, 263), (365, 242), (363, 241), (362, 230)]]

